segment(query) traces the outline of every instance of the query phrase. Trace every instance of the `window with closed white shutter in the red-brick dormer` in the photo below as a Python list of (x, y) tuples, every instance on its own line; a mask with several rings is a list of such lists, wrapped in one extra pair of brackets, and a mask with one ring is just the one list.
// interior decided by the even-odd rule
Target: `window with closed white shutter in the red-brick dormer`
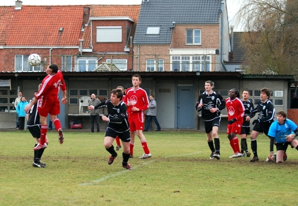
[(121, 26), (97, 26), (96, 42), (122, 42)]

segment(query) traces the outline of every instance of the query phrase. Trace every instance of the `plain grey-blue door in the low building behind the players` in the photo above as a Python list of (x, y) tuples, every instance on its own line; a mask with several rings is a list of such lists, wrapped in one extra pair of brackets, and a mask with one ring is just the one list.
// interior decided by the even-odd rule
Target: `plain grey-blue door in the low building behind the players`
[(195, 88), (178, 86), (177, 128), (195, 128)]

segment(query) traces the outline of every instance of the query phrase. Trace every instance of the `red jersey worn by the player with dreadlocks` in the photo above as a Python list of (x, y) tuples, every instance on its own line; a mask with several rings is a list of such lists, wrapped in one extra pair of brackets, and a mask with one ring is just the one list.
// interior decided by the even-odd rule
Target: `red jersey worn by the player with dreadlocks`
[(225, 106), (227, 111), (227, 117), (228, 120), (231, 119), (237, 119), (237, 122), (243, 123), (243, 116), (244, 116), (244, 106), (240, 99), (237, 97), (233, 100), (230, 100), (230, 98), (225, 99)]

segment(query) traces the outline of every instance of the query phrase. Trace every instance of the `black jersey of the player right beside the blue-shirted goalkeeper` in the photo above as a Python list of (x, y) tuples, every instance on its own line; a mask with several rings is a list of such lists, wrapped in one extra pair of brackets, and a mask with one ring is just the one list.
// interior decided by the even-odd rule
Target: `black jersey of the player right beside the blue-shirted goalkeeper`
[(251, 111), (252, 114), (259, 114), (258, 120), (260, 123), (273, 123), (274, 122), (274, 113), (275, 109), (272, 102), (267, 99), (266, 102), (258, 101), (257, 107)]

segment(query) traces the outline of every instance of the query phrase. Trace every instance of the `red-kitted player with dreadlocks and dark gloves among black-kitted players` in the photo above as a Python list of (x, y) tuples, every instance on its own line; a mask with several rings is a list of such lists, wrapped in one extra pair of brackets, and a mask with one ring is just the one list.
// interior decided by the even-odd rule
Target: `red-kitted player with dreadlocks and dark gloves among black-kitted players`
[(228, 94), (229, 98), (225, 99), (225, 106), (228, 117), (227, 137), (234, 151), (234, 154), (230, 156), (230, 158), (241, 157), (242, 154), (240, 152), (237, 134), (240, 135), (241, 132), (245, 109), (239, 99), (240, 94), (237, 89), (229, 90)]

